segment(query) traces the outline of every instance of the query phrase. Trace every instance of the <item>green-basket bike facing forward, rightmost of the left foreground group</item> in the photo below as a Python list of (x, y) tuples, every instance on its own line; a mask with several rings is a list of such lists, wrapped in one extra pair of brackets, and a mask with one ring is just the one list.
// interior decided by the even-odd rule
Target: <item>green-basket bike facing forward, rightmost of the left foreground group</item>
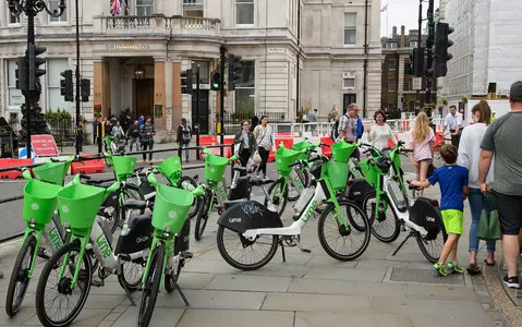
[(163, 279), (167, 292), (178, 290), (185, 304), (190, 305), (178, 284), (178, 279), (185, 261), (192, 258), (192, 253), (189, 252), (191, 221), (186, 218), (194, 195), (199, 196), (204, 193), (203, 185), (196, 189), (186, 185), (192, 191), (177, 189), (159, 184), (153, 172), (147, 174), (148, 182), (156, 187), (156, 202), (153, 211), (154, 237), (150, 255), (142, 279), (138, 326), (149, 325)]

